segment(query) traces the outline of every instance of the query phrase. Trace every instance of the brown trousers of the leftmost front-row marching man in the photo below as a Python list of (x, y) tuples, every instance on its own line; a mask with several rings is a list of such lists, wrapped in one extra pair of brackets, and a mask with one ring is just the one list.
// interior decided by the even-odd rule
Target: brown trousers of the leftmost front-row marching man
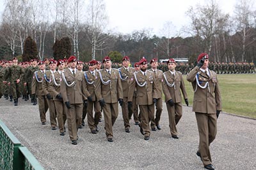
[(83, 103), (70, 104), (71, 108), (67, 108), (68, 134), (70, 140), (77, 139), (77, 130), (81, 123), (83, 114)]

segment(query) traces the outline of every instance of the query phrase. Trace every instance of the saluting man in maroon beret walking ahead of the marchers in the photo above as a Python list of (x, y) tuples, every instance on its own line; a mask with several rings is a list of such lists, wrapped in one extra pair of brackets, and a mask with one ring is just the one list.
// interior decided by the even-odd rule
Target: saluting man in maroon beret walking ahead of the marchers
[(196, 114), (199, 132), (196, 155), (201, 158), (205, 169), (214, 169), (209, 146), (217, 133), (217, 118), (221, 111), (220, 87), (217, 74), (208, 69), (208, 54), (200, 53), (197, 62), (197, 66), (187, 76), (187, 80), (192, 83), (195, 91), (193, 111)]

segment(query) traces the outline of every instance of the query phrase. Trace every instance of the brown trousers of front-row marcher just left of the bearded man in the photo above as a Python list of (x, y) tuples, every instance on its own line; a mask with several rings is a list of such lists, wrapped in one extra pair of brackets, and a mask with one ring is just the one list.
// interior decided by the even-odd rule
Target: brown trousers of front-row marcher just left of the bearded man
[(104, 113), (104, 122), (106, 128), (106, 136), (107, 138), (113, 137), (113, 125), (116, 122), (116, 118), (118, 117), (118, 104), (117, 103), (106, 103), (103, 107)]

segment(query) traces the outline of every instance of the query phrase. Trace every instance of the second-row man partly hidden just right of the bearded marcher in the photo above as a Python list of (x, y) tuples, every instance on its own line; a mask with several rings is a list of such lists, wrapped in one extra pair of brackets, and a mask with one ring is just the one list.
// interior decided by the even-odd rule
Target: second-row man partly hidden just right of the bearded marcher
[(151, 69), (149, 69), (150, 71), (152, 71), (154, 73), (154, 83), (156, 83), (156, 90), (157, 90), (157, 97), (156, 97), (156, 101), (154, 101), (154, 103), (156, 103), (156, 118), (154, 117), (151, 120), (151, 129), (152, 131), (156, 131), (156, 127), (158, 130), (161, 130), (161, 126), (159, 125), (159, 121), (161, 118), (161, 114), (163, 111), (163, 99), (162, 99), (162, 76), (163, 76), (163, 71), (157, 69), (158, 66), (158, 61), (157, 59), (152, 59), (150, 61), (150, 65), (151, 65)]

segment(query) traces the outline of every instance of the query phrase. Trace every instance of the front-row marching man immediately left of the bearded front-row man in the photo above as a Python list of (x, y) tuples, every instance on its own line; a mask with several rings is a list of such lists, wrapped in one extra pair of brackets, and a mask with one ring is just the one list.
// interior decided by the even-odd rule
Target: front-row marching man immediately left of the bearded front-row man
[(103, 109), (106, 137), (113, 142), (112, 127), (118, 117), (118, 103), (123, 104), (123, 89), (117, 69), (111, 68), (111, 59), (106, 56), (103, 59), (104, 69), (99, 70), (99, 77), (95, 78), (96, 96)]

